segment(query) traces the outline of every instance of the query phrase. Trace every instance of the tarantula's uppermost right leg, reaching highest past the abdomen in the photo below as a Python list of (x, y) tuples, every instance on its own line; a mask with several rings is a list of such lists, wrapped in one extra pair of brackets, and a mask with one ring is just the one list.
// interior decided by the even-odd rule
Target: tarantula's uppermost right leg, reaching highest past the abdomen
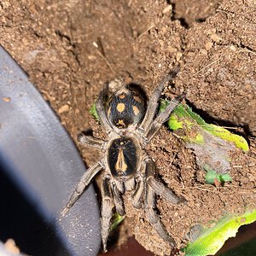
[(160, 84), (154, 89), (154, 92), (148, 101), (148, 108), (147, 112), (145, 113), (143, 122), (139, 126), (139, 131), (141, 131), (142, 133), (148, 130), (148, 126), (152, 123), (152, 120), (154, 119), (154, 114), (156, 112), (156, 109), (158, 108), (158, 101), (166, 83), (174, 79), (178, 71), (179, 67), (175, 67), (172, 72), (168, 76), (166, 76), (166, 78), (162, 79), (160, 81)]

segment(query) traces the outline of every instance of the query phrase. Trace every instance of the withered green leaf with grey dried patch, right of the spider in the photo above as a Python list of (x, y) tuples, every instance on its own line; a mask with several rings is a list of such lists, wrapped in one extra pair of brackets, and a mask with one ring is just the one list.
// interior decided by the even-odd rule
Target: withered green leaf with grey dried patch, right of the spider
[[(168, 104), (168, 101), (162, 101), (160, 111)], [(179, 104), (172, 112), (167, 125), (184, 141), (187, 148), (194, 150), (198, 166), (207, 172), (207, 183), (230, 182), (230, 152), (236, 148), (249, 150), (243, 137), (218, 125), (207, 124), (187, 105)]]

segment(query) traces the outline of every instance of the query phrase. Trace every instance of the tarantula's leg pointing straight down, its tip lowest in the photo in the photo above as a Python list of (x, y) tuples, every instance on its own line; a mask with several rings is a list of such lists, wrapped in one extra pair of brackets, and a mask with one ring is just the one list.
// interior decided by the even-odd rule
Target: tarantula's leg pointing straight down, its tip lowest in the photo
[(107, 252), (107, 241), (110, 228), (110, 220), (112, 218), (113, 195), (110, 188), (109, 177), (102, 179), (102, 244), (103, 251)]

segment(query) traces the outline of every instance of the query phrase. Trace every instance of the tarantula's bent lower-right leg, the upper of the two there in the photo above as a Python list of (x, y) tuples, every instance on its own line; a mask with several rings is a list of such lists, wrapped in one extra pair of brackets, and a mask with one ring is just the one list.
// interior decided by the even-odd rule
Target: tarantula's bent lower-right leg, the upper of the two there
[(173, 205), (177, 205), (180, 202), (184, 202), (183, 197), (179, 197), (175, 195), (171, 189), (166, 188), (166, 186), (161, 183), (159, 180), (157, 180), (154, 177), (155, 173), (155, 165), (153, 160), (148, 159), (147, 160), (147, 183), (148, 185), (154, 190), (156, 195), (160, 195), (160, 197), (166, 199), (166, 201), (169, 201)]

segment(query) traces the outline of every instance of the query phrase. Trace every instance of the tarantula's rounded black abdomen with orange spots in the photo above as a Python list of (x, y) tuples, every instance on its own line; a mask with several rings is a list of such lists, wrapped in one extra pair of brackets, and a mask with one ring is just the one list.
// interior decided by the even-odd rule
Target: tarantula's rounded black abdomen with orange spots
[(128, 84), (111, 97), (107, 111), (108, 119), (118, 128), (139, 124), (145, 114), (145, 97)]

